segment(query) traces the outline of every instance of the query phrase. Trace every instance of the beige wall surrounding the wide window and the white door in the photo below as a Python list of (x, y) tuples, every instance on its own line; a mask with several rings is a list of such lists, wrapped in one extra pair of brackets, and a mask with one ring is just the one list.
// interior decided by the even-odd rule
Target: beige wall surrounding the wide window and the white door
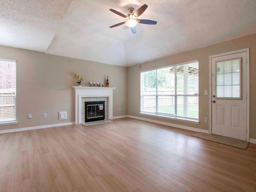
[[(209, 90), (209, 56), (250, 48), (250, 138), (256, 139), (256, 34), (242, 38), (214, 44), (211, 46), (191, 50), (181, 54), (168, 56), (158, 60), (141, 64), (141, 68), (132, 66), (128, 68), (128, 115), (169, 122), (173, 124), (190, 126), (208, 130), (208, 122), (204, 117), (209, 115), (209, 96), (204, 95), (204, 90)], [(199, 121), (200, 124), (168, 120), (151, 116), (140, 115), (140, 71), (169, 66), (192, 60), (199, 60)]]

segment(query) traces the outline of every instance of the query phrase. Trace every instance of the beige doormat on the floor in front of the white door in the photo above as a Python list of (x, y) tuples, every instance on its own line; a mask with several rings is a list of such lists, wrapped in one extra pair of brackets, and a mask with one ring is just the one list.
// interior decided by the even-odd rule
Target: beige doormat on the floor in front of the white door
[(197, 132), (195, 134), (192, 134), (191, 136), (206, 139), (209, 141), (214, 141), (217, 143), (221, 143), (221, 144), (225, 144), (225, 145), (229, 145), (229, 146), (233, 146), (233, 147), (237, 147), (240, 149), (246, 149), (248, 146), (248, 143), (249, 143), (247, 141), (232, 139), (232, 138), (223, 137), (223, 136), (214, 135), (214, 134), (201, 133), (201, 132)]

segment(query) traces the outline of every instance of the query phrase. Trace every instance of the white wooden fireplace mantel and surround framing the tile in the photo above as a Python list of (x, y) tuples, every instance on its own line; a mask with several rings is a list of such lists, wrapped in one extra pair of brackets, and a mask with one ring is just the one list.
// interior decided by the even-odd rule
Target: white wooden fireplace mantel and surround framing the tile
[(81, 124), (81, 98), (82, 97), (108, 97), (108, 119), (113, 119), (113, 90), (114, 87), (79, 87), (75, 89), (76, 124)]

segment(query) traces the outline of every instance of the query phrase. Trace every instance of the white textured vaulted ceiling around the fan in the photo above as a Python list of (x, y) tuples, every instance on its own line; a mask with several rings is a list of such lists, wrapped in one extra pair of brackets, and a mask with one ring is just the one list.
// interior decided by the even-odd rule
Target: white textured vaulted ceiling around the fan
[[(147, 4), (132, 34), (128, 14)], [(256, 0), (1, 0), (0, 45), (132, 66), (256, 33)]]

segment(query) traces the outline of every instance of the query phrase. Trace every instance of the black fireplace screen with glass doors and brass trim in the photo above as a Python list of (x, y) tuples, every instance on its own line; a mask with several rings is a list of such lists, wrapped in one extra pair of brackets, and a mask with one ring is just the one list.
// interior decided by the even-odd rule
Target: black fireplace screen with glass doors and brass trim
[(105, 102), (85, 102), (85, 122), (105, 119)]

